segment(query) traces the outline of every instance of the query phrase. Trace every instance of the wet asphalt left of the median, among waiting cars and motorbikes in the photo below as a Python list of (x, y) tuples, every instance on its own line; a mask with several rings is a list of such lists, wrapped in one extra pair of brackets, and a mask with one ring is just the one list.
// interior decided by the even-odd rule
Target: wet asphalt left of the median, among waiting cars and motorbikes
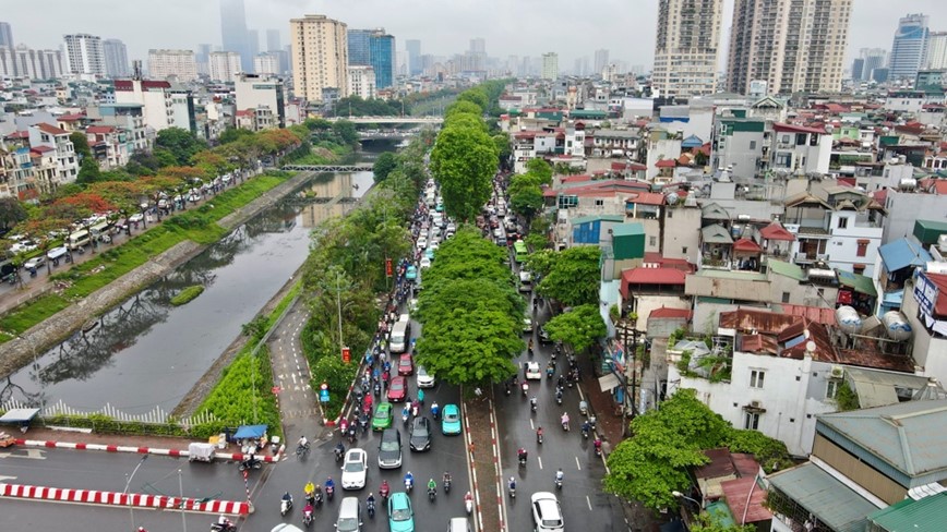
[[(409, 385), (409, 395), (417, 397), (417, 387), (411, 378)], [(460, 394), (456, 387), (446, 386), (437, 383), (434, 388), (429, 388), (424, 391), (424, 415), (430, 418), (430, 406), (432, 400), (436, 400), (443, 408), (444, 404), (453, 402), (459, 404)], [(445, 436), (441, 434), (441, 423), (433, 423), (434, 437), (431, 445), (431, 450), (427, 452), (411, 452), (409, 450), (409, 432), (405, 428), (400, 419), (400, 406), (395, 407), (394, 427), (401, 435), (401, 467), (393, 470), (381, 470), (377, 466), (379, 442), (381, 433), (369, 431), (368, 434), (362, 434), (359, 431), (358, 439), (355, 447), (364, 449), (368, 454), (368, 475), (365, 479), (365, 487), (363, 489), (343, 491), (341, 489), (341, 462), (335, 461), (333, 449), (336, 444), (343, 442), (348, 450), (352, 446), (347, 439), (343, 439), (338, 431), (333, 433), (329, 440), (314, 445), (310, 456), (303, 460), (299, 460), (295, 455), (280, 462), (273, 470), (273, 475), (267, 480), (265, 485), (253, 493), (253, 500), (256, 511), (250, 517), (249, 523), (254, 525), (254, 530), (265, 527), (274, 527), (278, 522), (292, 522), (300, 524), (302, 521), (302, 508), (304, 507), (303, 486), (307, 482), (325, 485), (325, 480), (332, 476), (335, 485), (335, 498), (332, 503), (323, 504), (322, 508), (314, 512), (314, 529), (328, 530), (332, 529), (338, 519), (338, 505), (341, 497), (358, 497), (362, 503), (363, 522), (365, 530), (387, 530), (387, 512), (383, 508), (379, 487), (382, 480), (388, 481), (392, 492), (401, 492), (405, 489), (404, 477), (410, 471), (415, 476), (415, 489), (411, 494), (411, 503), (415, 506), (415, 527), (417, 530), (440, 530), (444, 528), (451, 517), (465, 516), (464, 494), (469, 489), (470, 481), (467, 474), (467, 462), (465, 455), (464, 437), (463, 436)], [(431, 420), (433, 422), (433, 419)], [(451, 494), (444, 493), (441, 479), (445, 471), (451, 473), (453, 483)], [(434, 479), (437, 483), (437, 497), (435, 503), (430, 503), (427, 496), (427, 484), (429, 479)], [(293, 511), (281, 517), (279, 515), (279, 500), (285, 492), (289, 491), (293, 497)], [(455, 493), (456, 492), (456, 493)], [(364, 501), (369, 493), (373, 493), (376, 501), (376, 512), (374, 520), (369, 519), (364, 512)]]

